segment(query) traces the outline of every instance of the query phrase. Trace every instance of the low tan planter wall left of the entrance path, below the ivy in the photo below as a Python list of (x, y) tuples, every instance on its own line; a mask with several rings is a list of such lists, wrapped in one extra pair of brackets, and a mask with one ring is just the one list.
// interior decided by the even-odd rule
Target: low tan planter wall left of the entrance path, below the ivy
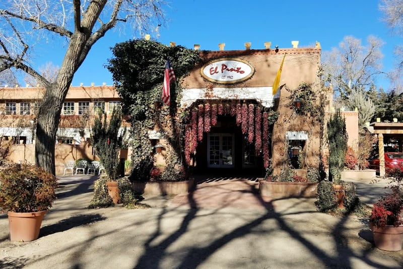
[(135, 181), (133, 190), (140, 194), (183, 194), (189, 193), (194, 188), (194, 179), (187, 181)]

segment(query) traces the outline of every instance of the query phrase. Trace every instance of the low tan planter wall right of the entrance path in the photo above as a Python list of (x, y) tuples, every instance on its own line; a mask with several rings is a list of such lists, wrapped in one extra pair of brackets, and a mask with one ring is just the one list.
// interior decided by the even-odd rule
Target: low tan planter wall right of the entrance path
[(318, 183), (316, 182), (271, 182), (259, 180), (259, 192), (262, 196), (279, 198), (314, 198)]

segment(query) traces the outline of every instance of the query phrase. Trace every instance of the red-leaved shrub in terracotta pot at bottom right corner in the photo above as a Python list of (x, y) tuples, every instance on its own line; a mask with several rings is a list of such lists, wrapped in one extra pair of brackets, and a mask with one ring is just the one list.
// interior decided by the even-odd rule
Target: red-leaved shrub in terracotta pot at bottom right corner
[(369, 217), (375, 246), (382, 250), (399, 251), (403, 243), (403, 172), (391, 172), (389, 193), (381, 196), (374, 204)]

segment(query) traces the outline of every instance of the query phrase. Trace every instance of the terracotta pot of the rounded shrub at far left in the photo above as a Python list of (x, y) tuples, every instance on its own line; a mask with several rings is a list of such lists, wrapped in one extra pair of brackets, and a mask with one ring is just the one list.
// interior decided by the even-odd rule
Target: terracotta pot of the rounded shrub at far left
[(29, 242), (38, 239), (42, 220), (47, 210), (30, 213), (9, 211), (10, 241)]

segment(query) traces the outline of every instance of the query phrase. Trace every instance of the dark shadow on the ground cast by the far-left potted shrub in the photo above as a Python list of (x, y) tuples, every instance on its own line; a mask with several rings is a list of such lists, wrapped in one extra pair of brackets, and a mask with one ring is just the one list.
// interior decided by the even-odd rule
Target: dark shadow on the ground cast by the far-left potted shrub
[(74, 227), (87, 225), (93, 222), (102, 221), (106, 218), (99, 214), (85, 214), (70, 217), (68, 219), (61, 220), (55, 224), (44, 226), (39, 232), (39, 237), (47, 236), (54, 233), (64, 232)]

